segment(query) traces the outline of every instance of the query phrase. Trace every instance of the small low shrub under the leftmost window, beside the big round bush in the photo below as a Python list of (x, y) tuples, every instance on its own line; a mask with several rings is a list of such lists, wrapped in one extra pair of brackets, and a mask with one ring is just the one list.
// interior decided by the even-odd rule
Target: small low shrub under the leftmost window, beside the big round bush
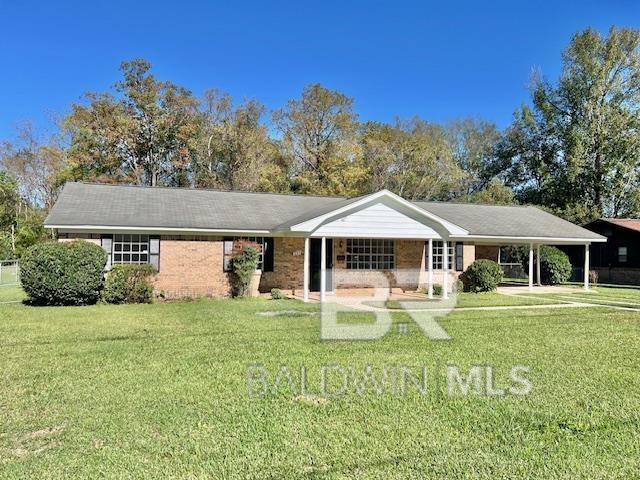
[(103, 297), (107, 303), (151, 303), (156, 273), (151, 265), (115, 265), (107, 274)]

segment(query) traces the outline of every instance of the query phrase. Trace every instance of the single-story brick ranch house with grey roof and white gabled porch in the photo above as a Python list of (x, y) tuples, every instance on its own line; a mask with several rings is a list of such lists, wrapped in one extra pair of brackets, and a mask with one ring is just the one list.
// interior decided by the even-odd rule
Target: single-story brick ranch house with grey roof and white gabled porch
[(540, 245), (581, 245), (588, 271), (589, 245), (606, 241), (534, 207), (410, 202), (386, 190), (344, 198), (67, 183), (45, 226), (102, 246), (107, 268), (154, 265), (167, 298), (229, 295), (230, 260), (247, 240), (262, 246), (259, 290), (305, 301), (380, 279), (430, 295), (440, 284), (446, 297), (474, 260), (516, 244), (529, 246), (533, 288)]

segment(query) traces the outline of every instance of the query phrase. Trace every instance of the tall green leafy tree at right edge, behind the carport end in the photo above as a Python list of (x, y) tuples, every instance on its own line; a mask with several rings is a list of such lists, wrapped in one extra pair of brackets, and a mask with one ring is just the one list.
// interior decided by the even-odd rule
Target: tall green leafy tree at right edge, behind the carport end
[(584, 222), (638, 214), (640, 31), (577, 33), (560, 79), (533, 82), (533, 108), (516, 112), (500, 146), (522, 201)]

